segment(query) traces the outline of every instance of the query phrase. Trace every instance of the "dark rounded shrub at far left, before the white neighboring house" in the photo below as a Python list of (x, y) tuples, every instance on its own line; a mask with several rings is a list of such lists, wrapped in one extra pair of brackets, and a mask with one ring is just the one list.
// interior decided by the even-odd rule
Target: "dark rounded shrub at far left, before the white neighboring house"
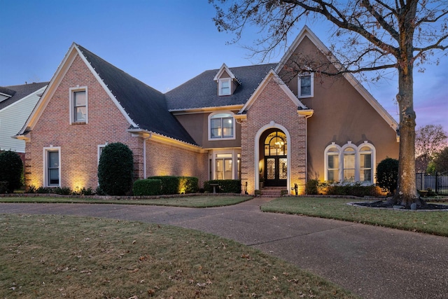
[(9, 193), (22, 186), (23, 163), (20, 155), (13, 151), (0, 153), (0, 181), (7, 181)]

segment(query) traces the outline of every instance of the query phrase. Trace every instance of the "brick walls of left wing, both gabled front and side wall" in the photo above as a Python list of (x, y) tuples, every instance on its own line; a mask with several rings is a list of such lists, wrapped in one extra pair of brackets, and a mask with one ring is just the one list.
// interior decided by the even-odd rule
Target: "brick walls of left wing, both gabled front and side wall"
[[(70, 88), (87, 86), (87, 123), (70, 124)], [(44, 148), (60, 148), (60, 186), (72, 190), (97, 188), (98, 146), (121, 142), (134, 153), (134, 172), (144, 176), (143, 139), (133, 137), (130, 123), (77, 56), (60, 81), (26, 143), (25, 184), (46, 186)], [(172, 174), (198, 176), (202, 154), (147, 142), (147, 176)], [(180, 162), (181, 161), (181, 162)], [(207, 164), (206, 164), (207, 165)], [(207, 173), (207, 172), (206, 172)]]

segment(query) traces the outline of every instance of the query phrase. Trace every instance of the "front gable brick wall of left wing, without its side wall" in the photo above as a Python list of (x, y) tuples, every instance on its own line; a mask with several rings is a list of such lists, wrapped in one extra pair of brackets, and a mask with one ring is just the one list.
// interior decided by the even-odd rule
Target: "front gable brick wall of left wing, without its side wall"
[[(70, 88), (87, 86), (88, 123), (70, 125)], [(60, 147), (61, 186), (97, 188), (98, 145), (122, 142), (134, 153), (137, 174), (142, 173), (141, 139), (126, 132), (129, 123), (76, 57), (57, 86), (26, 145), (26, 184), (45, 186), (44, 147)]]

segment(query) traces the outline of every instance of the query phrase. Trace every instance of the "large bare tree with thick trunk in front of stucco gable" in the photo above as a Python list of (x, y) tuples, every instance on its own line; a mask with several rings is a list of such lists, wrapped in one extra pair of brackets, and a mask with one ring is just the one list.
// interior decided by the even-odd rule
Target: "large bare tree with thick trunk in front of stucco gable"
[[(448, 1), (439, 0), (209, 0), (216, 8), (219, 31), (235, 32), (260, 27), (254, 53), (262, 60), (279, 47), (286, 47), (288, 33), (302, 18), (325, 18), (335, 25), (335, 38), (344, 43), (332, 46), (344, 72), (398, 72), (396, 99), (400, 111), (400, 166), (394, 202), (409, 206), (421, 203), (415, 182), (414, 67), (429, 62), (435, 53), (448, 48)], [(437, 59), (436, 59), (437, 62)], [(302, 69), (300, 63), (295, 71)], [(328, 68), (329, 69), (329, 68)], [(330, 74), (328, 74), (330, 75)], [(381, 73), (380, 75), (381, 76)]]

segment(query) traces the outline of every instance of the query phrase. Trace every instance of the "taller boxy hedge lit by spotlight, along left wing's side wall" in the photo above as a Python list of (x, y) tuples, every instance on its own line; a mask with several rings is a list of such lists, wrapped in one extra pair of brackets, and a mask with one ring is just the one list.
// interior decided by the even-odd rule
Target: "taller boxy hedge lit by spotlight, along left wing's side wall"
[(158, 179), (162, 186), (160, 194), (171, 195), (181, 193), (197, 193), (199, 179), (194, 176), (149, 176), (148, 179)]

